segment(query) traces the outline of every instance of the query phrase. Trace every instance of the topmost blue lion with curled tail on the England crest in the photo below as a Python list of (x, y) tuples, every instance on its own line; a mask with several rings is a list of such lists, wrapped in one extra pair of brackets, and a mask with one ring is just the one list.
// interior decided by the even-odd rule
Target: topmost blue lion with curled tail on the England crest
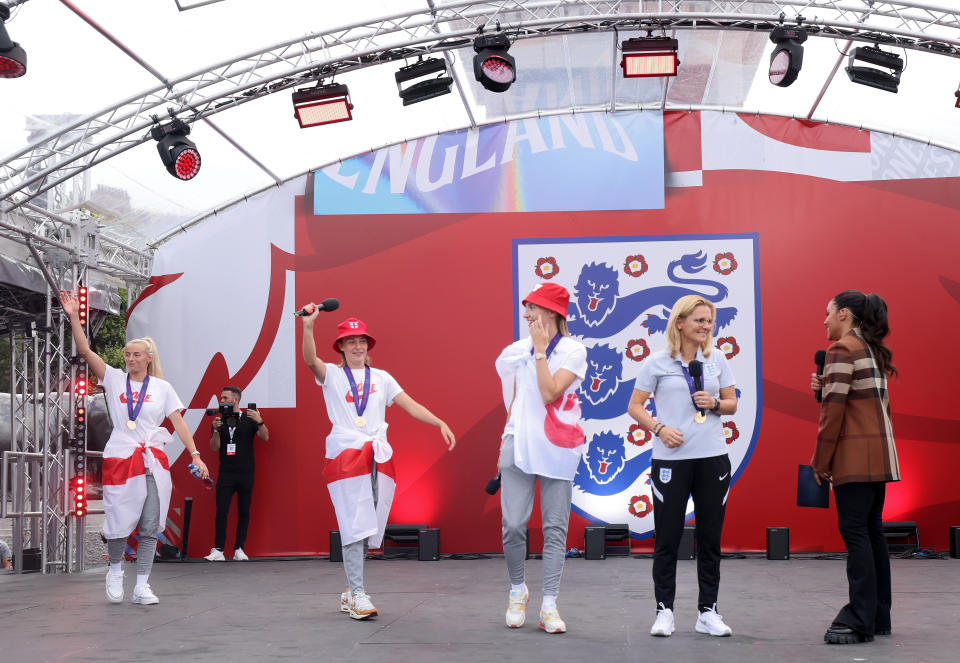
[[(699, 295), (714, 303), (727, 298), (729, 290), (719, 281), (681, 276), (681, 272), (697, 274), (706, 265), (707, 254), (703, 251), (683, 255), (667, 266), (667, 278), (677, 285), (654, 286), (624, 297), (620, 296), (616, 269), (606, 263), (584, 265), (574, 289), (576, 301), (571, 302), (567, 319), (570, 333), (583, 338), (613, 336), (651, 309), (657, 310), (647, 313), (640, 324), (648, 335), (663, 333), (670, 309), (684, 295)], [(726, 327), (736, 316), (735, 307), (718, 308), (716, 328)]]

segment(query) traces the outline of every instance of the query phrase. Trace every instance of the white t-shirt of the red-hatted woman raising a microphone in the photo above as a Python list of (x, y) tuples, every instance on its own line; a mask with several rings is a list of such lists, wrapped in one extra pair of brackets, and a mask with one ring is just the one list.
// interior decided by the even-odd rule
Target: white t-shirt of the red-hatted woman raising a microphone
[[(357, 394), (363, 398), (364, 369), (350, 369), (353, 372), (354, 382), (357, 384)], [(373, 383), (367, 407), (363, 411), (366, 425), (357, 429), (354, 421), (357, 418), (357, 408), (353, 402), (353, 392), (350, 382), (342, 367), (336, 364), (326, 364), (326, 375), (323, 382), (317, 379), (317, 384), (323, 387), (323, 402), (327, 406), (327, 416), (334, 425), (345, 426), (354, 430), (376, 431), (386, 419), (387, 406), (393, 405), (393, 400), (403, 392), (393, 376), (377, 368), (370, 369), (370, 381)]]

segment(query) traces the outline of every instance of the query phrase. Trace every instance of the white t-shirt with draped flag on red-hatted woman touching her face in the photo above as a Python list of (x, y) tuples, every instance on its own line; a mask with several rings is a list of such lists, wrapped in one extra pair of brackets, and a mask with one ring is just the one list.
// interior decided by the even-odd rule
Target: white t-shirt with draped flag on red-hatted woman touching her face
[(521, 470), (572, 481), (586, 441), (577, 388), (587, 372), (587, 350), (569, 336), (560, 339), (547, 358), (547, 368), (551, 375), (566, 369), (576, 378), (557, 400), (544, 404), (532, 349), (533, 342), (525, 338), (508, 345), (497, 357), (503, 404), (510, 412), (503, 435), (513, 435), (514, 463)]

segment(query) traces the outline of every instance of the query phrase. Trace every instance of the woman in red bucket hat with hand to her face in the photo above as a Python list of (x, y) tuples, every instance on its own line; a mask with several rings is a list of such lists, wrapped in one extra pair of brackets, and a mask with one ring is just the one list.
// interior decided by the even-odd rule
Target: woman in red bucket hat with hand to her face
[(543, 521), (543, 602), (540, 628), (565, 633), (557, 612), (573, 478), (585, 442), (577, 388), (587, 371), (587, 350), (567, 331), (570, 293), (541, 283), (523, 300), (530, 335), (497, 357), (507, 425), (500, 446), (503, 555), (510, 576), (507, 626), (520, 628), (529, 599), (524, 582), (527, 521), (540, 481)]

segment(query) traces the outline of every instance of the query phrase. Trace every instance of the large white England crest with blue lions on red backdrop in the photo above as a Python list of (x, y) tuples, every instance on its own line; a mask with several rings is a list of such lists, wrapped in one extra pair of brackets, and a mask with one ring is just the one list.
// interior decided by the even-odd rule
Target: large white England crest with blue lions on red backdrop
[[(643, 361), (666, 346), (674, 302), (696, 294), (717, 307), (714, 352), (737, 379), (737, 413), (723, 418), (732, 467), (743, 473), (760, 427), (760, 298), (756, 233), (514, 240), (514, 337), (520, 301), (537, 284), (570, 291), (567, 325), (587, 348), (580, 385), (587, 445), (574, 479), (573, 510), (598, 523), (653, 535), (653, 436), (627, 414)], [(656, 415), (651, 398), (646, 407)], [(670, 480), (661, 471), (660, 481)], [(692, 501), (687, 519), (693, 517)]]

